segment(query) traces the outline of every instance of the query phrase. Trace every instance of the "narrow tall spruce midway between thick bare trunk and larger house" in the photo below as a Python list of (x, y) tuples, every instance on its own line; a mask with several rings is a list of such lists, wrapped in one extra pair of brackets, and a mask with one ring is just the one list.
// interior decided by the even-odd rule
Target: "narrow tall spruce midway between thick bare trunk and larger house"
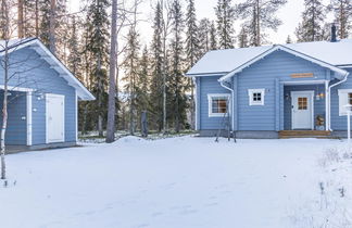
[(153, 39), (151, 43), (151, 115), (154, 117), (155, 128), (161, 131), (163, 127), (163, 48), (162, 48), (162, 9), (158, 1), (154, 21)]

